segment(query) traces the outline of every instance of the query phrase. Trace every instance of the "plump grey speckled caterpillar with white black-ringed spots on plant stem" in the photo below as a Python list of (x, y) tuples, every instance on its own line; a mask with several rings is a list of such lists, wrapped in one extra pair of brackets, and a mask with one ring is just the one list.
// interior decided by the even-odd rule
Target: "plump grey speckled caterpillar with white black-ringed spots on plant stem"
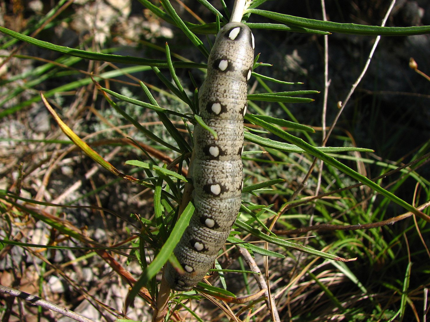
[(243, 116), (253, 61), (251, 30), (239, 22), (221, 28), (209, 54), (206, 80), (199, 90), (200, 117), (217, 132), (218, 139), (199, 125), (194, 129), (190, 174), (196, 210), (174, 251), (185, 273), (179, 274), (170, 264), (165, 273), (175, 290), (190, 290), (203, 279), (239, 212)]

